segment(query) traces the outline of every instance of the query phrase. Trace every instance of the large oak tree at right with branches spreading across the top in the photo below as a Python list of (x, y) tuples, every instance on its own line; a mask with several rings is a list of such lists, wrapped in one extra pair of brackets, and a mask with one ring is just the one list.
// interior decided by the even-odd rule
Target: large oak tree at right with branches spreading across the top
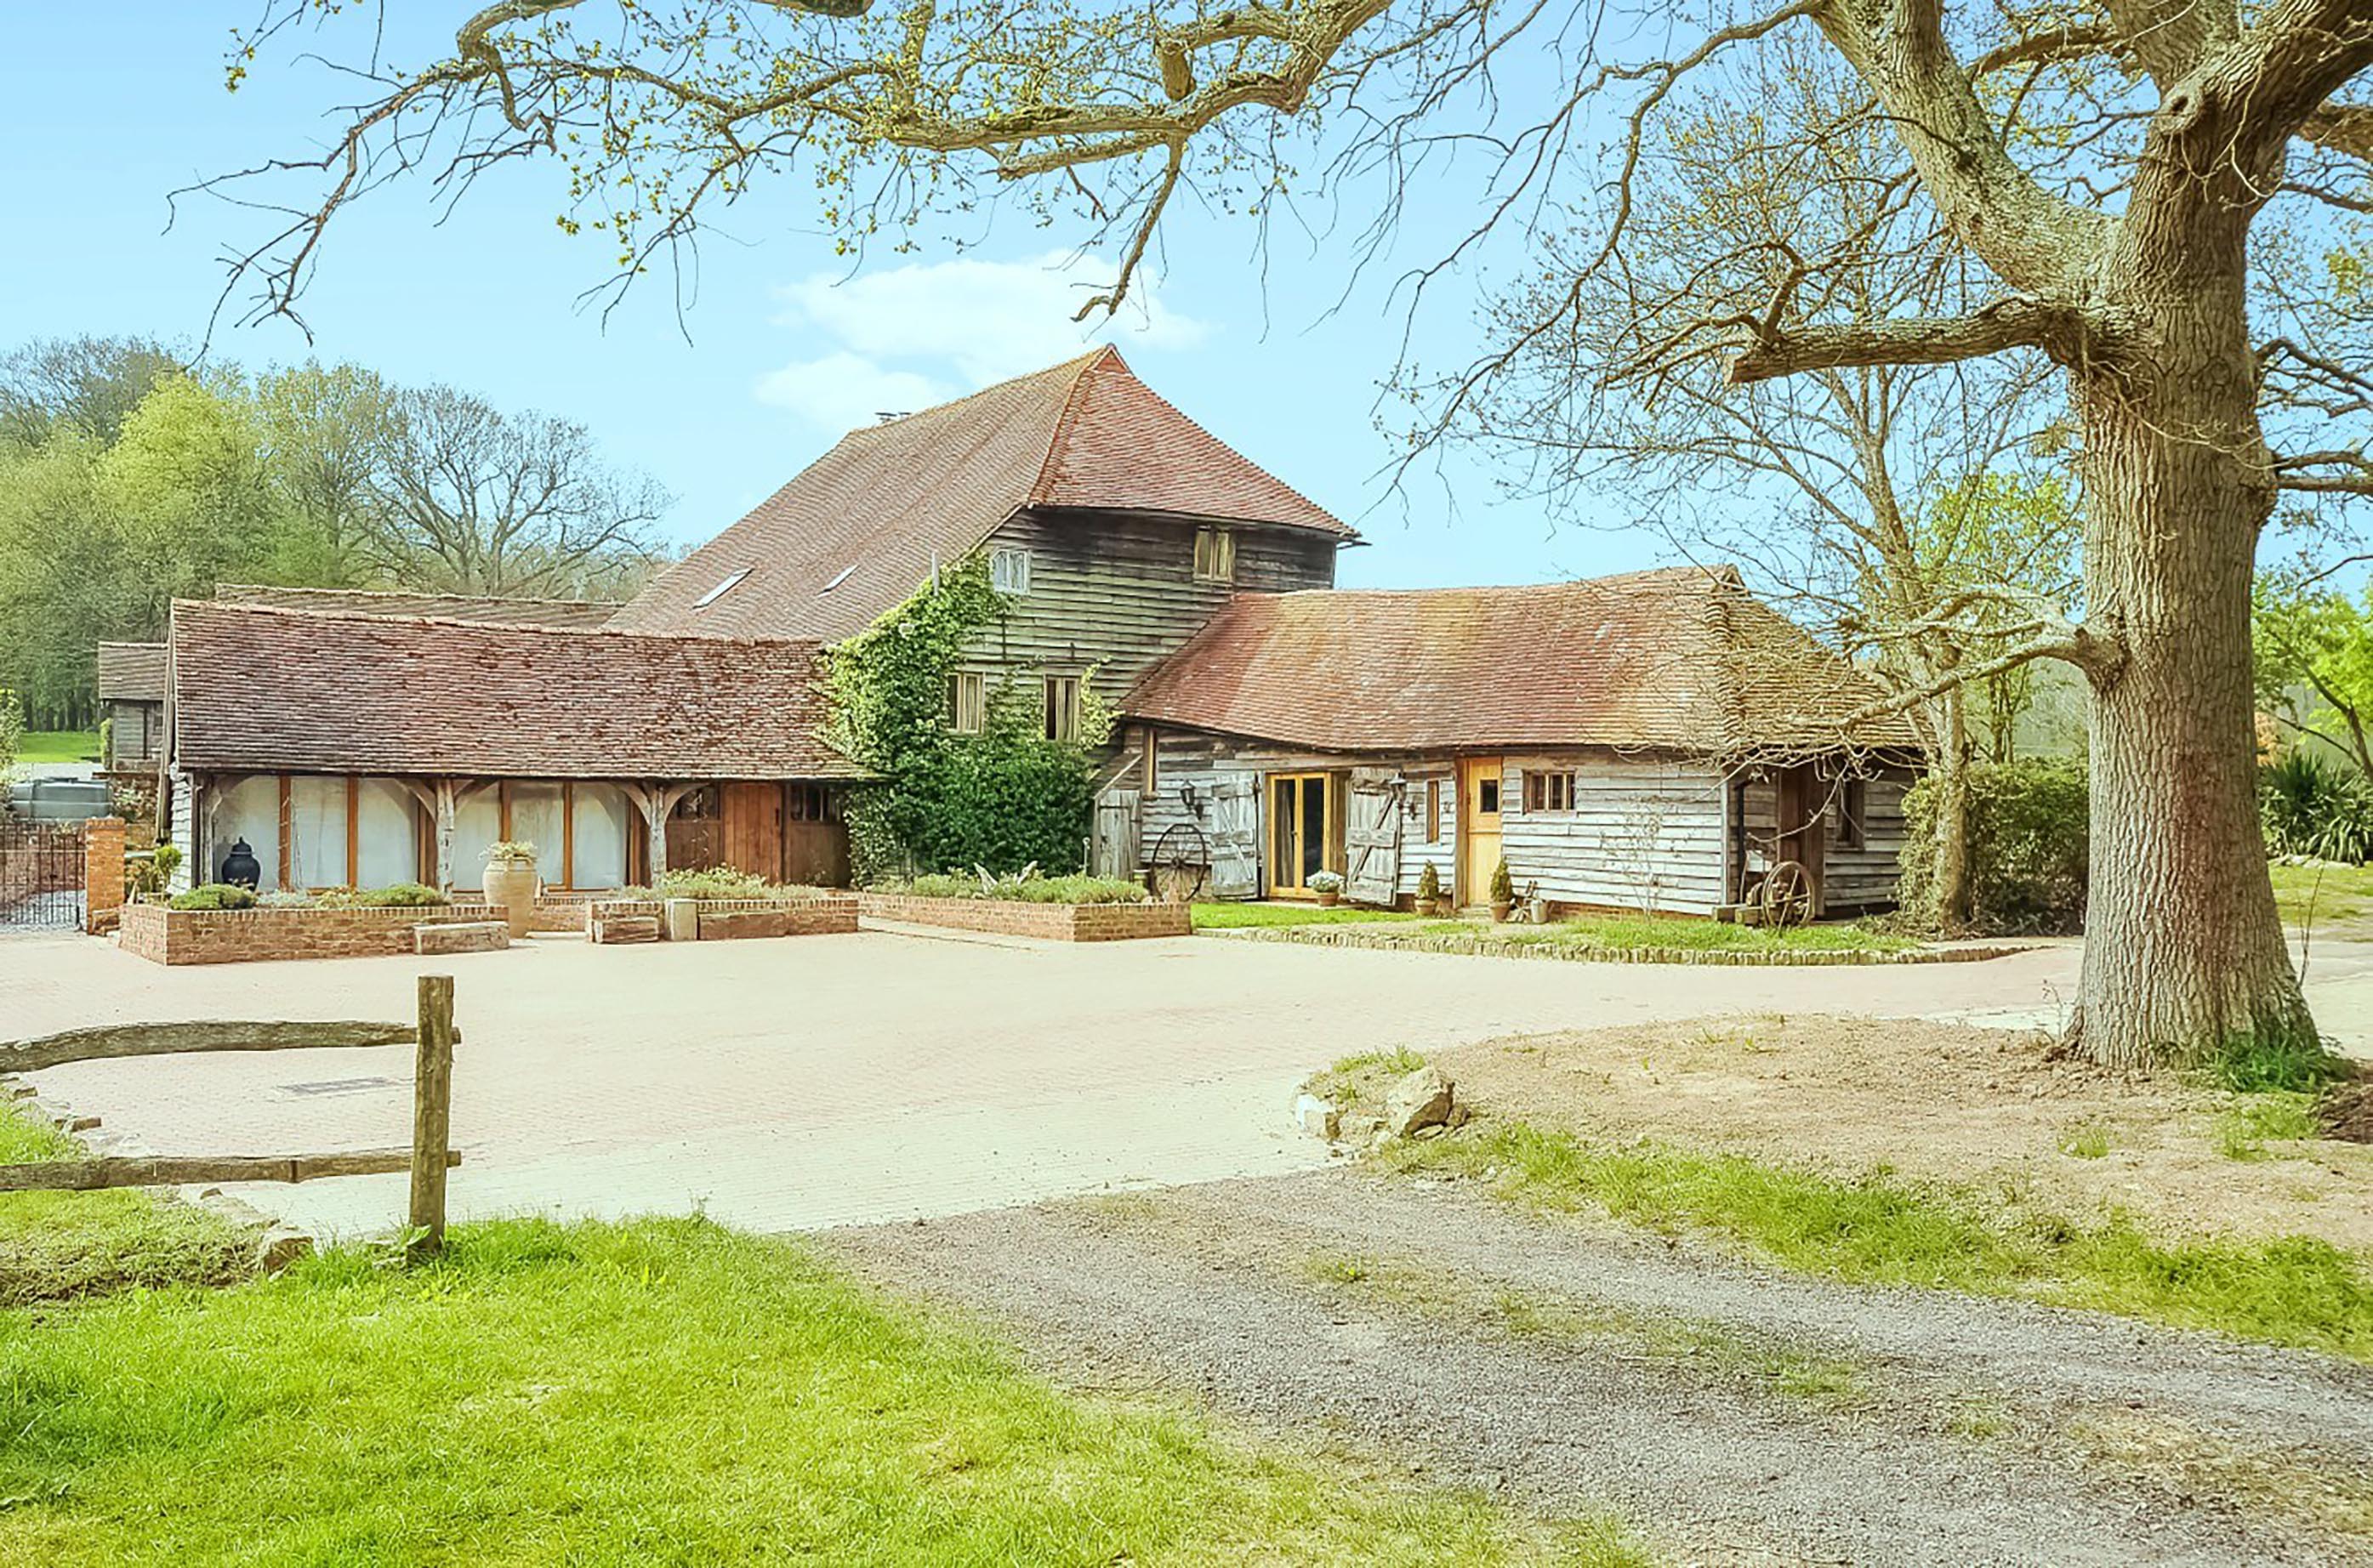
[[(278, 0), (252, 43), (335, 9)], [(1742, 311), (1737, 275), (1709, 278), (1687, 351), (1723, 353), (1739, 387), (2008, 351), (2060, 368), (2086, 617), (2036, 614), (1998, 659), (2065, 659), (2093, 690), (2081, 1044), (2148, 1063), (2307, 1034), (2254, 816), (2250, 576), (2285, 486), (2373, 489), (2347, 427), (2368, 382), (2311, 311), (2252, 332), (2250, 301), (2271, 206), (2345, 223), (2373, 197), (2373, 104), (2349, 97), (2373, 66), (2361, 0), (501, 0), (418, 71), (375, 69), (358, 38), (377, 85), (325, 157), (256, 171), (320, 185), (287, 199), (247, 273), (263, 308), (290, 308), (325, 225), (375, 183), (551, 154), (572, 168), (567, 221), (615, 237), (624, 275), (800, 166), (847, 244), (963, 213), (982, 187), (1082, 240), (1115, 232), (1111, 304), (1184, 190), (1267, 213), (1315, 157), (1312, 180), (1386, 213), (1412, 168), (1471, 171), (1483, 237), (1588, 216), (1580, 287), (1623, 266), (1647, 126), (1794, 36), (1851, 69), (1901, 147), (1903, 199), (1991, 287), (1948, 315), (1868, 320), (1832, 308), (1849, 254), (1737, 256), (1768, 292)], [(1443, 261), (1474, 244), (1448, 240)], [(2266, 410), (2288, 394), (2340, 415), (2276, 451)]]

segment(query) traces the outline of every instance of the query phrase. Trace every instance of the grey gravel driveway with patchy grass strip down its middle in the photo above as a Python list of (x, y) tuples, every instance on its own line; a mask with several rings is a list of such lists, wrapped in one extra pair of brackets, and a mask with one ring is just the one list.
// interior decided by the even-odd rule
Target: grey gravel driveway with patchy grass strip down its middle
[(1780, 1276), (1348, 1169), (838, 1231), (1058, 1378), (1210, 1397), (1687, 1563), (2373, 1561), (2373, 1371)]

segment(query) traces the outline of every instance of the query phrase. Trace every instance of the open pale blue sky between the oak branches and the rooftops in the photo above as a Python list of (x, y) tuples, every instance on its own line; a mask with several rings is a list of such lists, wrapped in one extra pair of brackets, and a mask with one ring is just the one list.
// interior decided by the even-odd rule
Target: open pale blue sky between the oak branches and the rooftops
[[(434, 43), (472, 0), (396, 7)], [(230, 95), (223, 50), (252, 2), (126, 0), (24, 7), (0, 57), (0, 176), (19, 223), (0, 247), (0, 344), (78, 332), (197, 342), (223, 285), (221, 254), (261, 230), (206, 197), (166, 230), (166, 195), (190, 180), (311, 147), (342, 100), (337, 78), (271, 52)], [(351, 52), (358, 36), (332, 36)], [(399, 59), (422, 50), (396, 38)], [(698, 299), (648, 278), (607, 323), (577, 304), (605, 278), (607, 247), (560, 235), (562, 173), (520, 166), (482, 183), (439, 223), (425, 180), (346, 213), (306, 297), (313, 342), (287, 323), (216, 330), (242, 363), (318, 353), (403, 382), (441, 380), (505, 406), (586, 422), (619, 463), (676, 496), (667, 520), (700, 541), (878, 408), (911, 408), (1063, 358), (1089, 342), (1070, 318), (1082, 282), (1061, 237), (992, 228), (956, 254), (876, 256), (842, 282), (826, 242), (797, 230), (785, 183), (712, 237)], [(1405, 213), (1402, 263), (1426, 235), (1462, 232), (1474, 195), (1440, 183)], [(1343, 562), (1350, 586), (1542, 581), (1659, 560), (1659, 541), (1604, 527), (1552, 529), (1528, 503), (1495, 501), (1490, 470), (1457, 463), (1448, 484), (1386, 498), (1391, 458), (1374, 429), (1400, 318), (1393, 266), (1338, 311), (1343, 242), (1279, 237), (1265, 278), (1241, 221), (1177, 209), (1149, 306), (1111, 339), (1158, 391), (1253, 460), (1360, 522), (1374, 548)], [(1471, 289), (1471, 280), (1452, 287)], [(1429, 313), (1429, 361), (1464, 358), (1464, 301)], [(1616, 515), (1609, 515), (1614, 522)]]

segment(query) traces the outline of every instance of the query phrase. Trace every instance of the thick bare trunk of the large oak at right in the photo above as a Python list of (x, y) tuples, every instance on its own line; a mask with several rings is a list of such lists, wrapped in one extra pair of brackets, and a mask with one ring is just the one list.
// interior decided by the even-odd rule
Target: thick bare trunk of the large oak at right
[(2202, 228), (2169, 244), (2145, 225), (2112, 256), (2117, 304), (2148, 323), (2152, 351), (2074, 370), (2086, 622), (2119, 650), (2088, 667), (2093, 871), (2076, 1041), (2114, 1067), (2314, 1032), (2257, 823), (2250, 579), (2273, 472), (2240, 244)]

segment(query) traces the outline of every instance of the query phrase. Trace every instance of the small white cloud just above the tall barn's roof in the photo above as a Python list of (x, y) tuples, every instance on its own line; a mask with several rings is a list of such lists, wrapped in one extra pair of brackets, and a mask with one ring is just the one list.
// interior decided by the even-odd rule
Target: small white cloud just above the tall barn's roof
[(781, 289), (781, 325), (838, 349), (793, 361), (757, 382), (757, 396), (821, 425), (871, 425), (990, 382), (1042, 370), (1101, 342), (1191, 349), (1210, 330), (1170, 311), (1160, 278), (1141, 270), (1115, 318), (1073, 313), (1111, 282), (1101, 256), (1049, 251), (1020, 261), (959, 256), (842, 278), (814, 273)]

